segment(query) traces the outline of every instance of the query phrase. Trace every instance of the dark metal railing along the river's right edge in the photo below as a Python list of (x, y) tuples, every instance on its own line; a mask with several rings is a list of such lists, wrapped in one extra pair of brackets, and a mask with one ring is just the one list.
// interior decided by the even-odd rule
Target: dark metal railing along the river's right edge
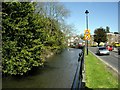
[(72, 90), (80, 90), (80, 88), (83, 88), (82, 87), (83, 69), (84, 69), (84, 47), (82, 48), (82, 51), (79, 53), (78, 65), (77, 65), (74, 81), (71, 87)]

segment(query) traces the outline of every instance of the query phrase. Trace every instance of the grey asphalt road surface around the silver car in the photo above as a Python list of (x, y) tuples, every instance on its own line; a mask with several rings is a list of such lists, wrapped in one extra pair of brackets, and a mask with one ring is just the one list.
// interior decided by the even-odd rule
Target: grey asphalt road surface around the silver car
[[(95, 54), (96, 48), (97, 47), (89, 47), (89, 50)], [(120, 55), (118, 55), (117, 52), (110, 51), (110, 55), (103, 55), (103, 56), (98, 56), (98, 57), (101, 58), (106, 63), (108, 63), (117, 72), (118, 72), (118, 70), (120, 70), (120, 66), (118, 65), (118, 62), (120, 62), (119, 61)]]

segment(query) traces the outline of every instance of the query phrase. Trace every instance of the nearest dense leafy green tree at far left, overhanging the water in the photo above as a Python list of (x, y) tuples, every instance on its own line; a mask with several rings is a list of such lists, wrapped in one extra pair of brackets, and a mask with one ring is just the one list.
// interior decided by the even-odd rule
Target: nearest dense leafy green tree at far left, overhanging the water
[(34, 14), (34, 3), (3, 2), (2, 6), (2, 71), (23, 75), (32, 67), (43, 65), (43, 18)]

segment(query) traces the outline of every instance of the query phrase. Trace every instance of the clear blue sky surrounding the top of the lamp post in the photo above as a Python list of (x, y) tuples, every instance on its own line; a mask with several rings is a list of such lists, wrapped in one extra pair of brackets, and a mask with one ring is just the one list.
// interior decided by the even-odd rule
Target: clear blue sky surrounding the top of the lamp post
[(61, 2), (70, 10), (66, 19), (75, 27), (75, 34), (80, 35), (86, 29), (85, 10), (89, 11), (89, 29), (91, 34), (99, 27), (110, 27), (110, 32), (118, 32), (118, 2)]

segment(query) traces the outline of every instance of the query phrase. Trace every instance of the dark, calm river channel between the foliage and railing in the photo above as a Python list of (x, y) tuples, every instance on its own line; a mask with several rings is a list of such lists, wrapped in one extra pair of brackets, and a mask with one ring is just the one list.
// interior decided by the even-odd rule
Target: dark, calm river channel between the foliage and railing
[(71, 88), (80, 49), (68, 48), (46, 60), (43, 68), (25, 77), (5, 76), (2, 88)]

